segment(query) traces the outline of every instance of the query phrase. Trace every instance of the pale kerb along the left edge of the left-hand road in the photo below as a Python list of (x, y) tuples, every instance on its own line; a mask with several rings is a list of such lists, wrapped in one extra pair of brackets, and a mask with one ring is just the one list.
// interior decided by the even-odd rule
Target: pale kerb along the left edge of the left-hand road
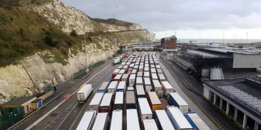
[[(99, 75), (100, 73), (102, 73), (105, 69), (109, 68), (111, 65), (109, 65), (108, 67), (104, 68), (103, 70), (101, 70), (99, 73), (97, 73), (96, 75), (94, 75), (93, 77), (91, 77), (88, 81), (86, 81), (84, 84), (90, 82), (93, 78), (95, 78), (97, 75)], [(73, 92), (73, 94), (70, 94), (70, 96), (66, 99), (64, 99), (63, 101), (61, 101), (58, 105), (56, 105), (54, 108), (52, 108), (49, 112), (47, 112), (46, 114), (44, 114), (41, 118), (39, 118), (38, 120), (36, 120), (34, 123), (32, 123), (32, 125), (30, 125), (29, 127), (27, 127), (25, 130), (30, 130), (33, 127), (35, 127), (38, 123), (40, 123), (42, 120), (44, 120), (47, 116), (49, 116), (52, 112), (54, 112), (57, 108), (59, 108), (62, 104), (64, 104), (70, 97), (72, 97), (76, 92), (78, 92), (80, 90), (80, 88), (78, 88), (75, 92)]]

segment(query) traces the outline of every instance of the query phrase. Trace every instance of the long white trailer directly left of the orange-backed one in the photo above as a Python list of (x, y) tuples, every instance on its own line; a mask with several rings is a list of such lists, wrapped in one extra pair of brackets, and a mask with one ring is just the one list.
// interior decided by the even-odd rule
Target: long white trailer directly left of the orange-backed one
[(139, 106), (139, 118), (141, 123), (143, 119), (153, 119), (151, 107), (148, 104), (148, 100), (146, 98), (138, 98), (138, 106)]

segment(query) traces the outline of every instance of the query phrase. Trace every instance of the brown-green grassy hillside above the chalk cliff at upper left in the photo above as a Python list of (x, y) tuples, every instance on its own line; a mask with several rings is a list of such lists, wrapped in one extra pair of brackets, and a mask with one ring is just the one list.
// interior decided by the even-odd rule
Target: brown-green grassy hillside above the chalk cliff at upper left
[(0, 7), (0, 66), (46, 49), (66, 56), (68, 48), (81, 40), (82, 36), (63, 33), (29, 7)]

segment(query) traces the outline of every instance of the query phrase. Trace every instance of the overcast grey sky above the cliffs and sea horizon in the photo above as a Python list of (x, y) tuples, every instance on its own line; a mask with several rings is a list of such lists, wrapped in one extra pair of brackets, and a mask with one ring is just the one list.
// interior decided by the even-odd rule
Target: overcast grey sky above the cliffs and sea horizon
[(156, 38), (261, 39), (260, 0), (61, 0), (92, 18), (139, 23)]

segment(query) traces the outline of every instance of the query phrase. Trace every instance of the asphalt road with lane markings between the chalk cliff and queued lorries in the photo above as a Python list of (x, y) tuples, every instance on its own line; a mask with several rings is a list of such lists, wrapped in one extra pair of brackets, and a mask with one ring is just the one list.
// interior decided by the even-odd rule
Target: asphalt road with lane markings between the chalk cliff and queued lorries
[[(101, 66), (103, 66), (101, 68)], [(53, 129), (76, 129), (79, 124), (80, 119), (82, 118), (85, 111), (88, 109), (88, 104), (93, 98), (99, 86), (103, 81), (110, 81), (112, 72), (119, 66), (111, 65), (111, 61), (108, 61), (101, 66), (98, 66), (93, 70), (93, 73), (88, 76), (86, 79), (80, 81), (74, 87), (72, 87), (70, 93), (73, 93), (77, 90), (81, 85), (83, 85), (86, 81), (88, 81), (91, 77), (102, 71), (104, 68), (109, 66), (107, 69), (102, 71), (102, 73), (98, 74), (95, 78), (90, 80), (88, 84), (93, 84), (94, 93), (87, 99), (85, 104), (78, 104), (76, 100), (76, 95), (72, 96), (68, 101), (66, 101), (63, 105), (61, 105), (58, 109), (56, 109), (52, 114), (50, 114), (47, 118), (41, 121), (38, 125), (36, 125), (33, 130), (45, 129), (45, 130), (53, 130)], [(79, 120), (78, 120), (79, 119)]]

